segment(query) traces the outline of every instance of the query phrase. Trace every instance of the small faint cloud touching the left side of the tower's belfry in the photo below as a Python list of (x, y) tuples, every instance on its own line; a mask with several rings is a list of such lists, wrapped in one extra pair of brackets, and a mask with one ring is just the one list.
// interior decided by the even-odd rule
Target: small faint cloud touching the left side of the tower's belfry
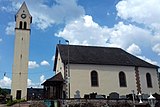
[(5, 31), (7, 35), (14, 35), (15, 22), (9, 22)]

